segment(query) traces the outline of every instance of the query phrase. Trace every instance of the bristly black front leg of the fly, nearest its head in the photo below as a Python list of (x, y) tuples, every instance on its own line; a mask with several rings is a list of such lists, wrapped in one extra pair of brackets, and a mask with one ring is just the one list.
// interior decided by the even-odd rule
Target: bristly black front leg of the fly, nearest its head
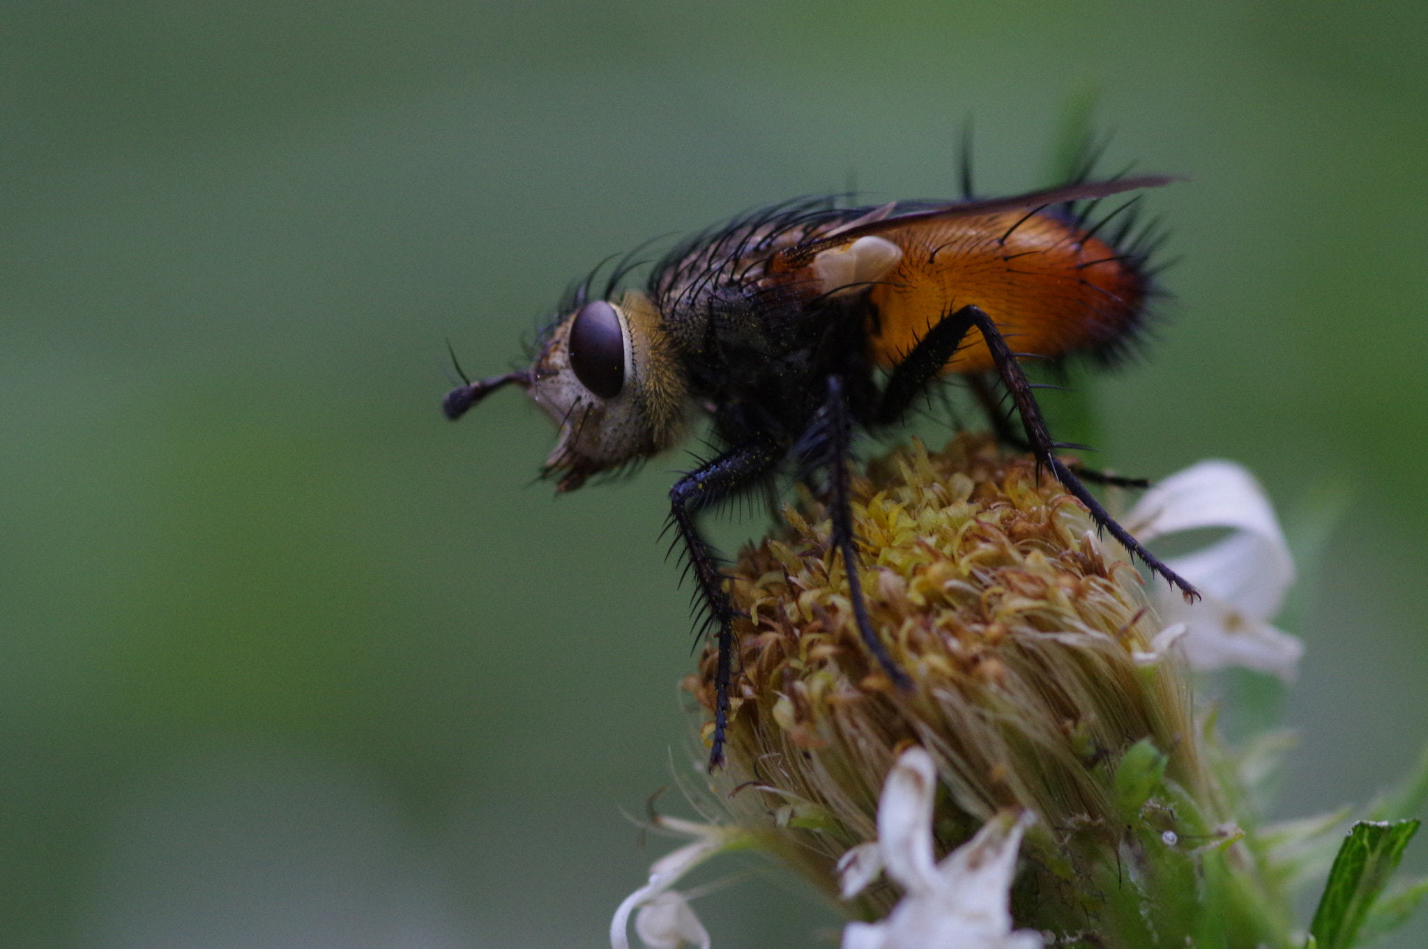
[(695, 514), (727, 498), (763, 475), (780, 461), (783, 452), (771, 441), (738, 445), (691, 471), (670, 488), (670, 522), (684, 541), (687, 571), (698, 585), (705, 624), (715, 629), (718, 665), (714, 672), (714, 741), (710, 746), (710, 771), (724, 763), (724, 736), (728, 731), (728, 685), (734, 666), (734, 602), (724, 592), (724, 574), (718, 558), (694, 522)]

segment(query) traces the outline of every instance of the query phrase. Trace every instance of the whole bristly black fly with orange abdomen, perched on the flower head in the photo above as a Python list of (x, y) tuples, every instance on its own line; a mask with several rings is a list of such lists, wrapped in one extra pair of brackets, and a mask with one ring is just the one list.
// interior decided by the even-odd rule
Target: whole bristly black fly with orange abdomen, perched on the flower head
[[(735, 611), (698, 515), (781, 471), (821, 471), (863, 642), (910, 688), (864, 605), (848, 462), (860, 431), (897, 425), (942, 375), (968, 375), (1004, 441), (1028, 448), (1100, 527), (1197, 597), (1057, 457), (1064, 445), (1051, 440), (1018, 365), (1108, 360), (1134, 340), (1151, 294), (1144, 254), (1124, 247), (1128, 227), (1100, 234), (1084, 211), (1170, 180), (1075, 183), (1000, 200), (761, 208), (677, 247), (643, 290), (618, 290), (623, 267), (603, 294), (587, 280), (541, 334), (530, 368), (461, 385), (444, 408), (458, 418), (506, 384), (524, 388), (560, 427), (544, 467), (558, 491), (671, 448), (695, 417), (710, 417), (717, 454), (670, 489), (670, 522), (718, 641), (714, 768), (724, 755)], [(1024, 440), (988, 395), (995, 385)]]

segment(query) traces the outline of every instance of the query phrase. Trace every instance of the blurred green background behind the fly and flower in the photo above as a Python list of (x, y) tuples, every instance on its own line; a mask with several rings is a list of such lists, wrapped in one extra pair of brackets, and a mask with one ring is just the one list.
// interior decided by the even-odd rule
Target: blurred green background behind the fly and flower
[[(850, 176), (954, 196), (967, 117), (981, 191), (1040, 186), (1087, 96), (1108, 171), (1192, 178), (1150, 198), (1178, 301), (1095, 390), (1110, 457), (1240, 460), (1291, 529), (1352, 489), (1282, 812), (1428, 736), (1424, 4), (0, 24), (0, 945), (604, 945), (668, 846), (623, 813), (691, 759), (655, 542), (683, 462), (553, 499), (518, 394), (441, 418), (446, 340), (501, 370), (607, 254)], [(760, 871), (701, 908), (720, 946), (835, 935)]]

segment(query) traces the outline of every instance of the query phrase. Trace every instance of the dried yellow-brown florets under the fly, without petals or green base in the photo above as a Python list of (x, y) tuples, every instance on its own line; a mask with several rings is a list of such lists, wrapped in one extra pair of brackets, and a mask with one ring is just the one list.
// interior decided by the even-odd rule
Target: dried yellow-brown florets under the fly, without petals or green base
[[(838, 858), (875, 836), (888, 768), (921, 745), (945, 795), (940, 852), (1000, 811), (1032, 811), (1030, 885), (1045, 905), (1084, 899), (1067, 883), (1121, 846), (1114, 775), (1137, 742), (1202, 811), (1167, 819), (1212, 818), (1182, 671), (1137, 661), (1161, 629), (1141, 578), (1054, 478), (988, 438), (931, 455), (914, 442), (855, 479), (853, 508), (874, 626), (914, 688), (860, 641), (827, 511), (805, 495), (730, 581), (745, 616), (715, 781), (741, 825), (834, 892)], [(685, 682), (705, 736), (715, 658), (708, 648)], [(870, 888), (863, 912), (895, 898)]]

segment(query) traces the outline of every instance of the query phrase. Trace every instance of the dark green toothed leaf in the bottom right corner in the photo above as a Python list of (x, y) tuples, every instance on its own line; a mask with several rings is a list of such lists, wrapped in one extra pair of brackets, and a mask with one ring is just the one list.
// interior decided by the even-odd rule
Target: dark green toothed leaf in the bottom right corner
[(1378, 893), (1418, 831), (1418, 821), (1359, 821), (1339, 846), (1309, 932), (1319, 949), (1351, 949)]

